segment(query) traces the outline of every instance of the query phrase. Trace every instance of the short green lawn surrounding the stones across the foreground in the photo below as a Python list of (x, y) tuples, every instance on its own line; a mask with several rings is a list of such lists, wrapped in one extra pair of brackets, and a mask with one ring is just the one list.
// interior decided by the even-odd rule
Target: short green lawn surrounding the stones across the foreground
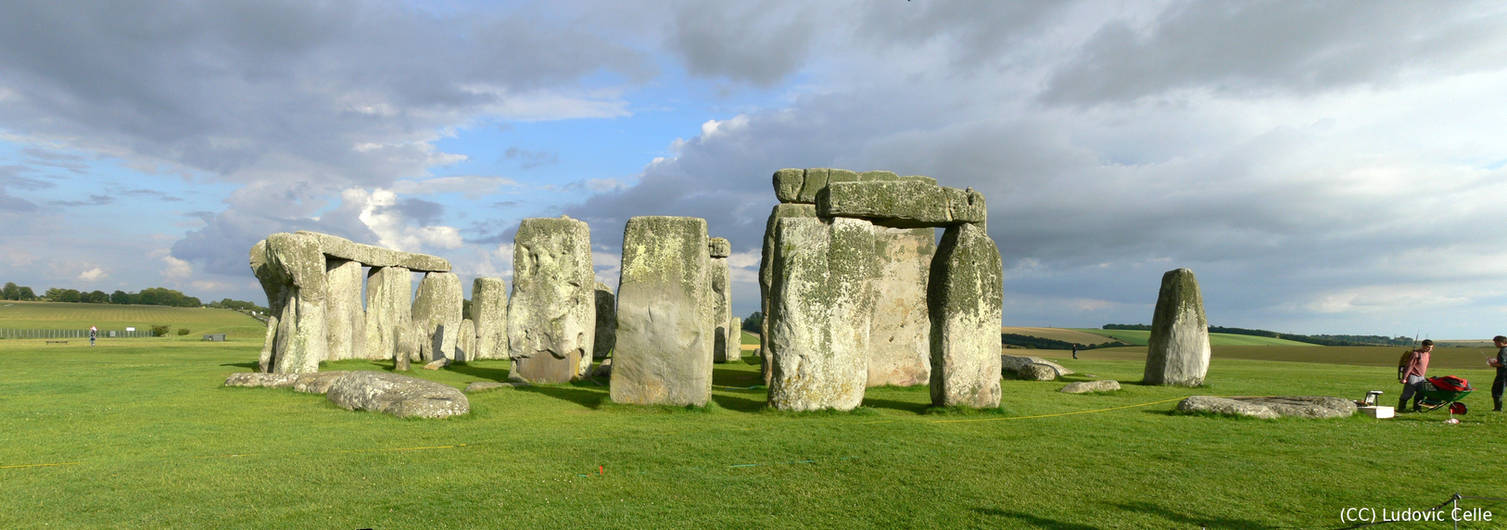
[[(1385, 390), (1397, 348), (1215, 346), (1204, 388), (1144, 387), (1144, 348), (1019, 351), (1114, 378), (1004, 381), (998, 411), (931, 411), (870, 388), (853, 413), (763, 408), (758, 364), (717, 364), (713, 405), (613, 405), (592, 382), (470, 394), (401, 420), (324, 396), (226, 388), (259, 340), (0, 340), (0, 527), (1343, 527), (1454, 492), (1507, 497), (1507, 416), (1468, 351), (1471, 414), (1246, 420), (1171, 413), (1189, 394)], [(1474, 354), (1474, 352), (1469, 352)], [(1388, 358), (1389, 357), (1389, 358)], [(1456, 358), (1459, 357), (1459, 358)], [(1276, 360), (1276, 361), (1273, 361)], [(1305, 361), (1296, 361), (1305, 360)], [(1365, 360), (1362, 363), (1362, 360)], [(339, 361), (324, 369), (384, 370)], [(410, 375), (464, 387), (506, 361)], [(1507, 516), (1507, 506), (1466, 500)]]

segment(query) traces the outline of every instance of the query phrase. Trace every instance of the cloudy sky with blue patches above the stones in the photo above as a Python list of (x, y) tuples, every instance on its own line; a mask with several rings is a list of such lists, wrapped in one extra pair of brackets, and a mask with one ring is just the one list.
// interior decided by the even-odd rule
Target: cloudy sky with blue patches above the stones
[(1415, 2), (8, 2), (0, 280), (265, 304), (318, 230), (509, 280), (527, 217), (732, 242), (782, 167), (989, 205), (1007, 325), (1507, 333), (1507, 6)]

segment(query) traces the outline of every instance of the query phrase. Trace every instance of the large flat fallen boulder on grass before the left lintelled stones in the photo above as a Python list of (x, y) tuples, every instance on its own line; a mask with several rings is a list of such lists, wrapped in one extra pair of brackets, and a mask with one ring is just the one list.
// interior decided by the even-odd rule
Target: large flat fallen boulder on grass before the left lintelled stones
[(326, 394), (344, 410), (387, 413), (396, 417), (449, 417), (470, 411), (460, 390), (434, 381), (383, 372), (351, 372)]

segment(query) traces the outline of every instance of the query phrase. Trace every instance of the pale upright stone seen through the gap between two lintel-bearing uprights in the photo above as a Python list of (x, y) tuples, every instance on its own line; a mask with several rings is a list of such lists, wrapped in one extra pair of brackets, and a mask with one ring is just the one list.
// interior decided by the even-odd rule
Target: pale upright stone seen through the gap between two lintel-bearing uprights
[(934, 254), (934, 229), (874, 227), (877, 271), (874, 321), (870, 325), (870, 387), (909, 387), (931, 381), (927, 282)]

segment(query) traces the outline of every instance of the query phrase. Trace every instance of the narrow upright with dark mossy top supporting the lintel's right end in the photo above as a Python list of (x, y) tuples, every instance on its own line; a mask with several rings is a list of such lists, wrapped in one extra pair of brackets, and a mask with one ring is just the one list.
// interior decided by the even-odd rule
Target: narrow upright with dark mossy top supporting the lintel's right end
[(1004, 268), (980, 224), (951, 226), (931, 260), (931, 404), (999, 407)]

